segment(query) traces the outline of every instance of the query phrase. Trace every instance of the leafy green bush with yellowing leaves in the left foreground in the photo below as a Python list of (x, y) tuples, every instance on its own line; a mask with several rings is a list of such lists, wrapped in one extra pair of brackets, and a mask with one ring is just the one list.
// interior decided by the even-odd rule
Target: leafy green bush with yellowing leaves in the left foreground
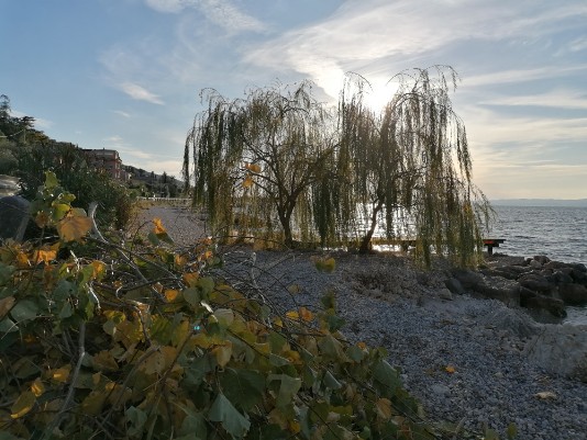
[[(59, 241), (0, 248), (1, 439), (440, 438), (333, 295), (280, 316), (210, 275), (210, 240), (174, 252), (154, 219), (136, 252), (73, 200), (47, 173), (33, 216)], [(102, 260), (58, 260), (71, 241)]]

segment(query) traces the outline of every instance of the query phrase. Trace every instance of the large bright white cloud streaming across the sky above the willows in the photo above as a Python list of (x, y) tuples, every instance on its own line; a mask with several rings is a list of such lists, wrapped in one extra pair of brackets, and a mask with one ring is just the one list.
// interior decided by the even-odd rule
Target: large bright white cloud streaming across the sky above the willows
[[(412, 67), (408, 63), (429, 65), (441, 52), (456, 50), (458, 45), (495, 43), (506, 48), (550, 35), (564, 29), (565, 19), (587, 13), (578, 1), (564, 8), (539, 3), (536, 8), (527, 2), (498, 8), (470, 1), (347, 1), (325, 21), (253, 48), (246, 61), (317, 78), (320, 87), (332, 90), (341, 87), (341, 72), (389, 79)], [(329, 83), (333, 79), (336, 84)]]

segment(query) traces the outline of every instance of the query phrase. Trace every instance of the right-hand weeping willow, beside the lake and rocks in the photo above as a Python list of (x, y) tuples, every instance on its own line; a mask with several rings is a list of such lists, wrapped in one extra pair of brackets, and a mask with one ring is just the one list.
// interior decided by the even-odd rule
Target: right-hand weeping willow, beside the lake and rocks
[(425, 263), (432, 250), (472, 263), (489, 205), (472, 182), (465, 126), (448, 97), (456, 72), (414, 69), (391, 80), (398, 90), (380, 114), (365, 105), (364, 78), (348, 76), (341, 92), (339, 169), (351, 182), (342, 223), (364, 225), (364, 252), (381, 227), (387, 238), (417, 239)]

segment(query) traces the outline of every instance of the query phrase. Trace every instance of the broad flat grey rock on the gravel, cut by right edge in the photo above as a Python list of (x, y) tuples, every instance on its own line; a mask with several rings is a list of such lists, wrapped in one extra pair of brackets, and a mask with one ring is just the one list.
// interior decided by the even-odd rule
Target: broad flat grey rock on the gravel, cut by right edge
[(549, 373), (587, 383), (586, 325), (544, 325), (523, 352), (531, 363)]

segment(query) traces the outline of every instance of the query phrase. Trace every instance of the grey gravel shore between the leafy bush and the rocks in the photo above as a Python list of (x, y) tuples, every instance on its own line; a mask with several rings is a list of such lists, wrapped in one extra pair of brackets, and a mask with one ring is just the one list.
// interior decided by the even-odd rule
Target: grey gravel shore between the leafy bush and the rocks
[[(206, 235), (187, 210), (155, 206), (140, 215), (143, 223), (153, 217), (178, 245)], [(587, 384), (528, 362), (523, 349), (541, 325), (525, 313), (492, 300), (451, 296), (442, 268), (422, 272), (405, 257), (333, 255), (336, 270), (325, 274), (312, 256), (232, 249), (224, 275), (243, 283), (253, 277), (281, 309), (315, 308), (326, 290), (334, 291), (345, 336), (385, 347), (432, 420), (475, 431), (488, 426), (502, 438), (513, 422), (521, 440), (587, 439)]]

